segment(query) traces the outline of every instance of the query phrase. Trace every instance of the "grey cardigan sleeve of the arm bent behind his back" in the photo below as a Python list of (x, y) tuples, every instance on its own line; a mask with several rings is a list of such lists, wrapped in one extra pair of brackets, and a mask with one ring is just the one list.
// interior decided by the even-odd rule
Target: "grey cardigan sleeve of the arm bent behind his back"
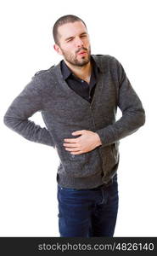
[(27, 84), (9, 106), (3, 117), (4, 125), (20, 134), (25, 139), (42, 143), (54, 148), (53, 138), (48, 129), (36, 125), (29, 118), (37, 111), (42, 111), (42, 89), (36, 75)]

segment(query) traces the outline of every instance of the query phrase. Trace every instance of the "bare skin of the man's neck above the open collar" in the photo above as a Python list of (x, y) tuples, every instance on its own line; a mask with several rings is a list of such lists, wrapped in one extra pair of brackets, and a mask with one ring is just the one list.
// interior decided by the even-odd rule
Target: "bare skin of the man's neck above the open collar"
[(82, 67), (71, 65), (70, 62), (66, 60), (64, 60), (64, 62), (70, 68), (72, 73), (74, 73), (78, 78), (89, 82), (92, 73), (91, 61), (89, 61), (85, 66)]

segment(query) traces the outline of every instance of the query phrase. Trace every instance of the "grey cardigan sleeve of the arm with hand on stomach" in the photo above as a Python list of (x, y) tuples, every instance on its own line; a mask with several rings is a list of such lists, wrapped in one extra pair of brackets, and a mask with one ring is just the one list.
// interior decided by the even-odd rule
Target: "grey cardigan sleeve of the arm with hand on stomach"
[(102, 143), (100, 148), (131, 135), (145, 123), (143, 104), (127, 79), (124, 68), (116, 59), (115, 74), (119, 92), (117, 105), (121, 109), (122, 116), (115, 124), (96, 131)]

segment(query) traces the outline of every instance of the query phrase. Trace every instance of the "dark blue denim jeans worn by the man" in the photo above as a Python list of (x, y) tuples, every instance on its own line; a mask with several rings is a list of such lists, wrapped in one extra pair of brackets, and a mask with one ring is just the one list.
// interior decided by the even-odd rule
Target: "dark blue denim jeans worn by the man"
[(113, 236), (118, 212), (117, 175), (108, 186), (66, 189), (58, 184), (59, 234), (64, 237)]

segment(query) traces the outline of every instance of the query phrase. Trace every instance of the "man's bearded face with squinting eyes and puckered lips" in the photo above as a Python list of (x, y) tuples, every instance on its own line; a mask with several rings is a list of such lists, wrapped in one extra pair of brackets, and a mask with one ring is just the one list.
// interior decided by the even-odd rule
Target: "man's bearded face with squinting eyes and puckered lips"
[(90, 61), (91, 47), (86, 26), (81, 21), (59, 26), (59, 45), (54, 49), (64, 60), (74, 66), (82, 67)]

